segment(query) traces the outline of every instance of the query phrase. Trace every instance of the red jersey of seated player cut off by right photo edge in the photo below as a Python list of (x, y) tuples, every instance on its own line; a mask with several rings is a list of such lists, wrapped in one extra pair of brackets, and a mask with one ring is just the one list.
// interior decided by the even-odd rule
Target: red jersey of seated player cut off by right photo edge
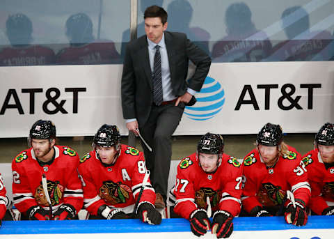
[(334, 206), (334, 167), (326, 169), (318, 149), (303, 155), (311, 186), (310, 208), (317, 215), (328, 206)]

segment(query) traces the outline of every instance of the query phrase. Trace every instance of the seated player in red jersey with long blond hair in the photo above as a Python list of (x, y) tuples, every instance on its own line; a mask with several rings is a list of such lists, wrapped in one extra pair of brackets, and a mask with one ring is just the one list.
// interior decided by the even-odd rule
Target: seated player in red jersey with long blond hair
[(287, 223), (306, 224), (308, 177), (301, 155), (283, 142), (280, 125), (264, 125), (257, 134), (256, 148), (243, 164), (243, 211), (256, 217), (285, 215)]

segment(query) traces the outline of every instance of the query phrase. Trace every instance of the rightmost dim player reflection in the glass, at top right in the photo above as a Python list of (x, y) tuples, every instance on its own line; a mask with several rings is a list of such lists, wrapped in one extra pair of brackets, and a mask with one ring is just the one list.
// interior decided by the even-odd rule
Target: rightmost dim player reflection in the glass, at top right
[(301, 6), (282, 13), (282, 27), (288, 40), (273, 47), (273, 61), (328, 61), (331, 59), (332, 36), (328, 31), (310, 31), (310, 19)]

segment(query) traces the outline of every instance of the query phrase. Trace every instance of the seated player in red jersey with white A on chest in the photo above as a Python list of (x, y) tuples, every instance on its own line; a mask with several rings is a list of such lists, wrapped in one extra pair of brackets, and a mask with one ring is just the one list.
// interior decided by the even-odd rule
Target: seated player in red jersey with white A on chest
[(161, 223), (150, 179), (143, 185), (148, 174), (143, 153), (120, 144), (116, 125), (104, 124), (97, 130), (93, 151), (80, 160), (79, 174), (90, 219), (129, 218), (135, 211), (143, 222)]

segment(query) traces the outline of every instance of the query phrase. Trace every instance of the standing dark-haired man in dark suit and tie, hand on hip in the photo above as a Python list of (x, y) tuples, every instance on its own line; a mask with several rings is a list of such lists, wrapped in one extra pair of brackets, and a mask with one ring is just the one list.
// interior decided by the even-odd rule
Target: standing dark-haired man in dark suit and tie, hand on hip
[[(164, 8), (150, 6), (144, 13), (146, 35), (127, 45), (122, 72), (122, 111), (127, 129), (152, 146), (143, 145), (146, 166), (157, 193), (155, 206), (164, 208), (171, 158), (171, 136), (184, 107), (200, 91), (210, 57), (184, 33), (166, 31)], [(186, 82), (189, 59), (196, 71)]]

